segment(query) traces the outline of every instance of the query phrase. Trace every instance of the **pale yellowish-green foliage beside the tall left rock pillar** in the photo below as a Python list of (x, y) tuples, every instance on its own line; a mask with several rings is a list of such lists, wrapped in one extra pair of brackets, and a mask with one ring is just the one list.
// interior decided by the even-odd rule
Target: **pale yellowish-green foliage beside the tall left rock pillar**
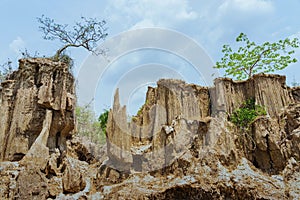
[(77, 106), (75, 109), (78, 135), (91, 142), (103, 145), (106, 141), (100, 122), (89, 106)]

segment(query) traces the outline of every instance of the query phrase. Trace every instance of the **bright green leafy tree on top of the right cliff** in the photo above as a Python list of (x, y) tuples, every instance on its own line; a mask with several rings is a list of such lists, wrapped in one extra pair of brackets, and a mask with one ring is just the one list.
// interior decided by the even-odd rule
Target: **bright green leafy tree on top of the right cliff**
[(290, 63), (297, 62), (291, 55), (299, 47), (298, 38), (279, 40), (278, 42), (265, 42), (257, 45), (251, 42), (246, 34), (241, 33), (236, 42), (243, 43), (237, 51), (229, 45), (224, 45), (221, 61), (215, 68), (225, 69), (225, 76), (231, 75), (239, 80), (250, 78), (256, 73), (268, 73), (286, 68)]

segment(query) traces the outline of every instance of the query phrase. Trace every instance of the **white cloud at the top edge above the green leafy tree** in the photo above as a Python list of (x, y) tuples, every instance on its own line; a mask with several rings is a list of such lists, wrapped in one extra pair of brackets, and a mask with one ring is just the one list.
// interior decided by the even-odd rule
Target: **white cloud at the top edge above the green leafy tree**
[[(220, 49), (220, 42), (234, 41), (240, 32), (250, 37), (262, 30), (265, 33), (276, 14), (275, 3), (270, 0), (214, 0), (207, 3), (206, 9), (199, 11), (204, 19), (204, 30), (199, 35), (210, 49)], [(207, 42), (207, 35), (214, 39)]]

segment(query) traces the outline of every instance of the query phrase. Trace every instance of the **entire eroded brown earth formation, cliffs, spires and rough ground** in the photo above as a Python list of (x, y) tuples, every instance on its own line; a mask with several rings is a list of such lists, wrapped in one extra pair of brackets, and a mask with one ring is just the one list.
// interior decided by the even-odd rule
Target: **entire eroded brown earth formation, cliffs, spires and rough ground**
[[(0, 199), (300, 198), (300, 88), (284, 76), (163, 79), (130, 123), (116, 91), (101, 155), (75, 136), (67, 65), (20, 60), (1, 86)], [(241, 130), (229, 118), (250, 98), (267, 115)]]

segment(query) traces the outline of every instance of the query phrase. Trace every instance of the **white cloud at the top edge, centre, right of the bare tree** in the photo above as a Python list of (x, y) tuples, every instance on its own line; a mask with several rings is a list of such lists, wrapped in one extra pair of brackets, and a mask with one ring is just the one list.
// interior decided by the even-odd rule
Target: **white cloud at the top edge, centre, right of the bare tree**
[(163, 26), (173, 28), (176, 24), (195, 20), (198, 14), (189, 6), (187, 0), (116, 0), (106, 9), (110, 20), (127, 23), (129, 27)]

